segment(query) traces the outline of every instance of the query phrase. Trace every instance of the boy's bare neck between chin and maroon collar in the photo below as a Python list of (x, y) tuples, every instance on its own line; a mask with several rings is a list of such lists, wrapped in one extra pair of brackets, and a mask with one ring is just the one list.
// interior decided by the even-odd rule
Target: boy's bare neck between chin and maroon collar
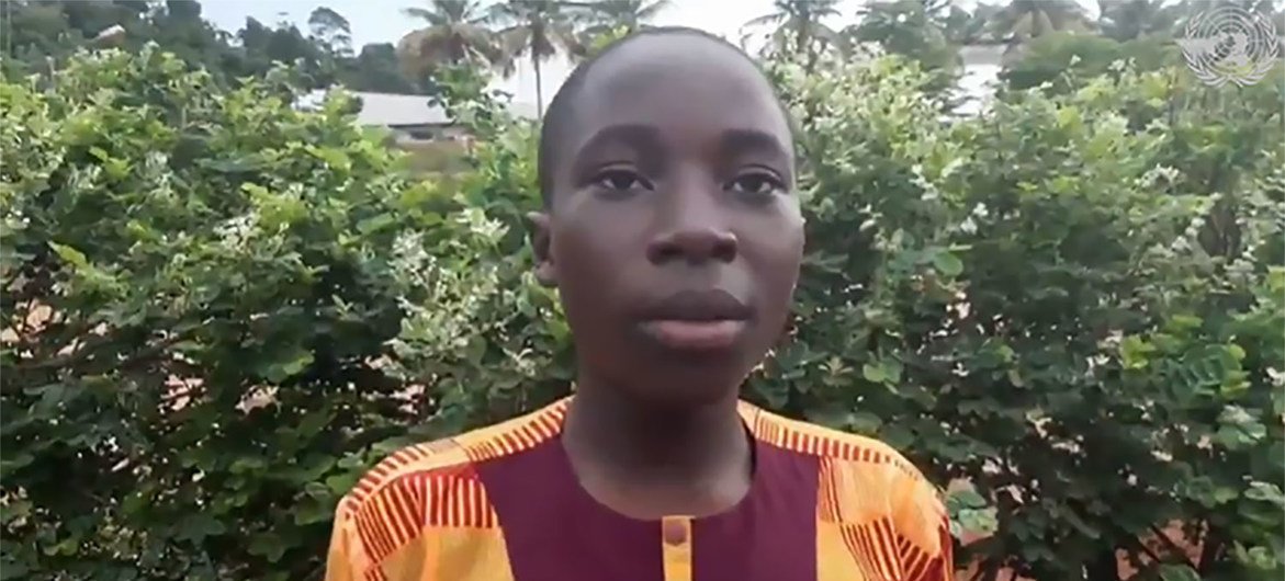
[(659, 408), (613, 386), (581, 382), (563, 442), (573, 458), (630, 482), (707, 481), (750, 464), (736, 390), (694, 408)]

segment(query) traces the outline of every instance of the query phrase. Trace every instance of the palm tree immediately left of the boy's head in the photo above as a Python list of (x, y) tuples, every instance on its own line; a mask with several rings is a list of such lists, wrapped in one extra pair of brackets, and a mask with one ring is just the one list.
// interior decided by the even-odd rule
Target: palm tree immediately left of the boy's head
[(505, 46), (509, 65), (514, 59), (527, 56), (536, 72), (536, 118), (544, 118), (545, 95), (540, 64), (558, 53), (578, 54), (581, 44), (568, 3), (556, 0), (509, 0), (492, 6), (495, 22), (505, 26), (499, 32)]

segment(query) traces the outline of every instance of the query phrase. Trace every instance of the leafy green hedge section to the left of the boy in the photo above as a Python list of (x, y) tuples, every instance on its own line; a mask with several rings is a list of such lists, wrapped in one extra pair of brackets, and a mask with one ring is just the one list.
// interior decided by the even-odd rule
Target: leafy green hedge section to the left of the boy
[(290, 96), (152, 50), (0, 85), (4, 578), (315, 578), (438, 416), (391, 341), (464, 327), (501, 232)]

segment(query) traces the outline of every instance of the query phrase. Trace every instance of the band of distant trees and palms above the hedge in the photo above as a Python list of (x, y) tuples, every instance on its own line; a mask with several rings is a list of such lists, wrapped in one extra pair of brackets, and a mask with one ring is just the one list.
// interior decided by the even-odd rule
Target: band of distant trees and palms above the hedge
[[(337, 3), (341, 5), (351, 5)], [(433, 77), (459, 65), (487, 80), (532, 65), (536, 105), (542, 109), (542, 63), (555, 55), (580, 59), (613, 37), (634, 31), (666, 9), (667, 0), (484, 1), (406, 0), (402, 15), (418, 26), (400, 38), (352, 45), (348, 19), (317, 6), (306, 22), (263, 23), (247, 18), (224, 31), (203, 18), (197, 0), (0, 0), (6, 71), (48, 72), (78, 47), (136, 51), (148, 42), (199, 64), (216, 81), (261, 77), (274, 63), (294, 65), (297, 85), (344, 85), (356, 91), (436, 95)], [(1281, 0), (1110, 0), (1096, 17), (1072, 0), (982, 1), (970, 9), (948, 0), (870, 0), (855, 13), (833, 0), (774, 0), (772, 12), (745, 23), (743, 42), (767, 40), (759, 56), (802, 54), (804, 68), (821, 56), (852, 60), (878, 45), (928, 71), (925, 87), (951, 108), (962, 73), (960, 47), (1004, 47), (1004, 87), (1065, 86), (1070, 71), (1094, 76), (1132, 59), (1141, 69), (1177, 63), (1173, 37), (1183, 23), (1216, 4), (1270, 14), (1285, 26)], [(852, 18), (831, 27), (831, 19)]]

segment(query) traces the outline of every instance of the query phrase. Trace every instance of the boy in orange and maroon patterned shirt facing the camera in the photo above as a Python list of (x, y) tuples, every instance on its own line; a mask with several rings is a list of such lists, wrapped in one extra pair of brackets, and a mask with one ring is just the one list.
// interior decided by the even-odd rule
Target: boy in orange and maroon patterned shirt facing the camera
[(540, 142), (538, 278), (574, 395), (411, 446), (338, 507), (329, 581), (946, 581), (935, 490), (884, 444), (739, 400), (803, 253), (788, 117), (689, 28), (578, 67)]

